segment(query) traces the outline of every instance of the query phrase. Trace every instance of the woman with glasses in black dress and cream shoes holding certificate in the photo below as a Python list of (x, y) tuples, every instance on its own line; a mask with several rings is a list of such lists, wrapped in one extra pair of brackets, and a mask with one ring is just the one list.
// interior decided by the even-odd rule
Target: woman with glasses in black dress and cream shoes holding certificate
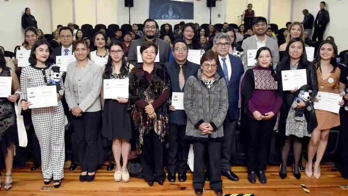
[[(128, 155), (130, 152), (129, 140), (132, 138), (132, 125), (130, 122), (130, 113), (127, 110), (129, 74), (133, 65), (126, 62), (124, 58), (124, 47), (118, 41), (113, 41), (110, 45), (110, 56), (108, 62), (102, 67), (103, 88), (100, 93), (103, 110), (103, 128), (102, 135), (109, 141), (112, 141), (112, 153), (116, 161), (114, 180), (119, 182), (128, 182), (129, 173), (127, 170)], [(118, 84), (126, 82), (124, 89), (110, 88), (110, 80), (119, 81)], [(105, 91), (104, 91), (105, 89)], [(123, 92), (123, 91), (122, 91)], [(114, 97), (112, 96), (113, 93)], [(105, 95), (105, 96), (104, 96)], [(109, 97), (109, 95), (111, 95)], [(104, 99), (105, 97), (105, 99)], [(112, 98), (113, 97), (113, 98)], [(115, 118), (117, 116), (117, 118)], [(122, 156), (122, 166), (120, 159)]]

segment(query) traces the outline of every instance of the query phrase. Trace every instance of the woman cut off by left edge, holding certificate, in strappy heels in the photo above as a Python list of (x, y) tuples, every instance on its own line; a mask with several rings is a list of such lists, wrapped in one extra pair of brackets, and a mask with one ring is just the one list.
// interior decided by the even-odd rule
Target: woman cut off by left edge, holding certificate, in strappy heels
[[(18, 143), (16, 115), (13, 103), (21, 96), (21, 88), (15, 70), (9, 68), (6, 64), (7, 62), (3, 52), (0, 51), (0, 80), (2, 84), (0, 90), (0, 171), (4, 168), (2, 163), (5, 162), (6, 173), (3, 188), (5, 190), (10, 190), (13, 182), (13, 146), (14, 143)], [(15, 93), (11, 95), (13, 92)]]

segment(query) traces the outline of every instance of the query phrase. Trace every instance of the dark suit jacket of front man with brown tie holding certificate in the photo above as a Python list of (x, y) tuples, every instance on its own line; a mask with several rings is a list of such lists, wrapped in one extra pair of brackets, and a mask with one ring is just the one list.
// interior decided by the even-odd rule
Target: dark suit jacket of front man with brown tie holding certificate
[[(179, 66), (176, 65), (176, 62), (167, 62), (164, 64), (167, 68), (168, 74), (171, 77), (172, 82), (172, 91), (173, 92), (184, 92), (184, 88), (180, 90), (179, 86)], [(196, 63), (187, 61), (186, 65), (183, 66), (185, 81), (192, 74), (197, 73), (200, 66)], [(171, 111), (169, 113), (169, 123), (177, 125), (186, 125), (187, 115), (184, 110)]]

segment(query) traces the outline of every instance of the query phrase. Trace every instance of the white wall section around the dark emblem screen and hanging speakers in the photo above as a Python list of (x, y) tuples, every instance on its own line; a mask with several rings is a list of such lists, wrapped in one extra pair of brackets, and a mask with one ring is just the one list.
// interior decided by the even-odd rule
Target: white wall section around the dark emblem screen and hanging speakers
[[(128, 7), (124, 7), (124, 0), (117, 0), (118, 4), (118, 24), (128, 24)], [(231, 1), (231, 0), (230, 0)], [(134, 0), (134, 7), (131, 8), (130, 23), (143, 23), (149, 18), (149, 0)], [(206, 0), (194, 1), (194, 20), (184, 20), (198, 24), (209, 23), (209, 8)], [(242, 11), (243, 12), (243, 11)], [(212, 8), (212, 24), (224, 23), (226, 13), (226, 0), (216, 1), (216, 7)], [(220, 18), (217, 17), (220, 14)], [(182, 20), (156, 20), (158, 25), (169, 23), (175, 25)]]

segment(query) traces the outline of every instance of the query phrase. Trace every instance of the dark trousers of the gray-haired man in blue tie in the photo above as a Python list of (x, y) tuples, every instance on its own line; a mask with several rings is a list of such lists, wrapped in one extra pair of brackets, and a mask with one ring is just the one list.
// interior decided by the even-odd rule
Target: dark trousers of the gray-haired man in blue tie
[(234, 132), (236, 129), (237, 121), (229, 122), (225, 120), (223, 123), (223, 142), (221, 144), (221, 171), (228, 172), (231, 170), (231, 154), (234, 143)]

